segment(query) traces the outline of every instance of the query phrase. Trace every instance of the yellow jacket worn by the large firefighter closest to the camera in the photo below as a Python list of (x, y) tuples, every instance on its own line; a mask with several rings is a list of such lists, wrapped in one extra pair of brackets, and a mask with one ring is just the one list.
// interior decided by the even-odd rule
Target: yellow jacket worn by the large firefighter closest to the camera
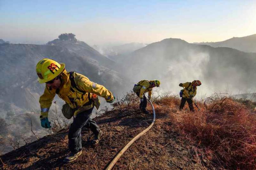
[(75, 72), (72, 74), (76, 87), (80, 90), (77, 90), (71, 85), (69, 73), (66, 70), (64, 70), (60, 75), (62, 78), (61, 87), (59, 89), (52, 89), (46, 85), (44, 94), (40, 96), (39, 103), (42, 110), (40, 118), (48, 117), (48, 111), (52, 105), (52, 100), (55, 94), (68, 103), (72, 109), (76, 110), (74, 112), (74, 116), (81, 111), (89, 110), (93, 107), (93, 103), (91, 101), (92, 94), (104, 97), (106, 101), (114, 99), (114, 96), (108, 89), (90, 81), (82, 74)]

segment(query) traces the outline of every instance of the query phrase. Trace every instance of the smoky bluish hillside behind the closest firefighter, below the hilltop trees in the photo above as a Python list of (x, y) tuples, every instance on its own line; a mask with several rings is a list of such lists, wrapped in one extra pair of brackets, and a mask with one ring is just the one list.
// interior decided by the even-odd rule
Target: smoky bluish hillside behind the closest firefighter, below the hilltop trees
[[(36, 117), (36, 122), (34, 122), (33, 127), (40, 127), (38, 101), (40, 95), (43, 94), (45, 83), (37, 82), (36, 64), (43, 58), (64, 62), (67, 71), (84, 74), (91, 81), (104, 85), (114, 95), (122, 92), (122, 86), (126, 82), (123, 76), (115, 70), (115, 63), (112, 60), (82, 41), (54, 40), (47, 45), (0, 44), (2, 73), (0, 118), (4, 118), (9, 124), (8, 128), (16, 129), (17, 133), (21, 133), (20, 127), (26, 122), (24, 114), (27, 112), (33, 111), (35, 113), (33, 115)], [(54, 101), (57, 101), (56, 107), (60, 114), (64, 102), (57, 95)], [(104, 104), (105, 102), (102, 102), (102, 107)], [(53, 113), (55, 113), (55, 104), (52, 104), (50, 110), (50, 121), (52, 121)], [(15, 118), (19, 118), (20, 121), (14, 123)], [(40, 130), (43, 131), (42, 128)], [(30, 130), (27, 129), (26, 131)], [(20, 139), (16, 133), (12, 133), (12, 135), (16, 140)]]

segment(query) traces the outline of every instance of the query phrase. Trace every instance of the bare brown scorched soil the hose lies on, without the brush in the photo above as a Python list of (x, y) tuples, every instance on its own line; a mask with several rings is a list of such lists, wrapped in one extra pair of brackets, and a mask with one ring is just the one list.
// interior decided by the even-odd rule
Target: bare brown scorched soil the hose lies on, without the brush
[[(196, 169), (189, 143), (179, 133), (164, 130), (174, 126), (167, 115), (156, 109), (154, 126), (132, 144), (113, 169)], [(68, 154), (66, 129), (2, 155), (4, 169), (104, 169), (152, 119), (138, 109), (109, 111), (94, 119), (103, 131), (98, 146), (91, 145), (92, 132), (82, 131), (83, 153), (76, 161), (62, 163)]]

